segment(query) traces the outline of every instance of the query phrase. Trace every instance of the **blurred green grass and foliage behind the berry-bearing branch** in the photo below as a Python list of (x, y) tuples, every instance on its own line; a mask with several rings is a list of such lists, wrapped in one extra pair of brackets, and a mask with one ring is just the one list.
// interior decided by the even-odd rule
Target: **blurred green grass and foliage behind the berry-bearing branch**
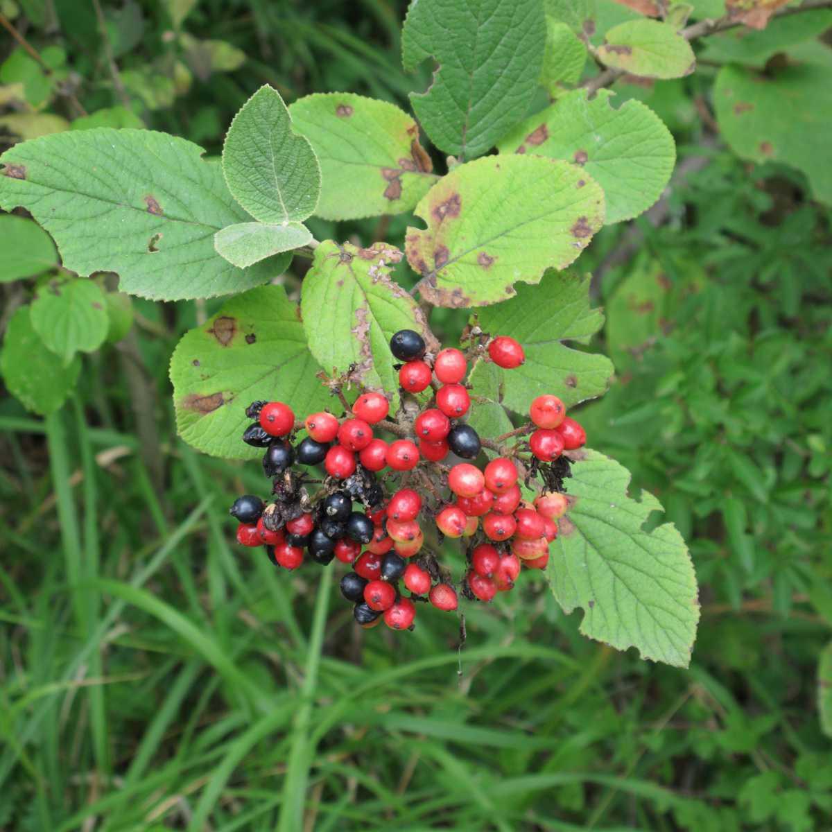
[[(613, 27), (610, 42), (635, 45), (626, 6), (640, 3), (593, 5), (595, 46)], [(696, 2), (695, 19), (721, 5)], [(430, 67), (401, 67), (404, 11), (382, 0), (0, 0), (42, 62), (12, 37), (0, 46), (2, 148), (146, 126), (216, 156), (263, 83), (287, 102), (350, 91), (406, 107)], [(582, 255), (606, 313), (591, 346), (617, 379), (580, 418), (691, 547), (702, 619), (690, 671), (587, 641), (581, 613), (565, 616), (528, 575), (493, 609), (468, 608), (462, 650), (438, 615), (404, 638), (355, 630), (349, 607), (329, 608), (330, 581), (275, 576), (230, 547), (225, 507), (256, 487), (257, 467), (176, 438), (168, 358), (220, 300), (129, 300), (90, 281), (102, 308), (77, 337), (62, 334), (62, 354), (37, 349), (67, 320), (71, 293), (48, 236), (0, 215), (3, 239), (18, 241), (0, 250), (0, 326), (32, 344), (4, 352), (0, 369), (24, 402), (32, 385), (54, 399), (43, 420), (0, 399), (0, 827), (265, 830), (282, 816), (290, 830), (281, 807), (305, 801), (310, 830), (824, 828), (829, 14), (708, 38), (695, 74), (612, 87), (636, 126), (640, 102), (670, 126), (678, 161), (668, 196)], [(547, 36), (570, 42), (564, 26)], [(544, 65), (549, 92), (570, 72)], [(773, 83), (752, 92), (772, 97), (743, 111), (738, 91), (756, 72)], [(598, 118), (602, 106), (599, 96)], [(750, 144), (755, 131), (770, 133)], [(552, 156), (568, 158), (567, 138)], [(643, 207), (623, 186), (619, 196), (622, 219)], [(305, 222), (319, 239), (363, 245), (400, 245), (409, 222), (343, 216)], [(305, 268), (296, 260), (287, 275), (295, 300)], [(437, 310), (432, 323), (453, 337), (464, 317)]]

